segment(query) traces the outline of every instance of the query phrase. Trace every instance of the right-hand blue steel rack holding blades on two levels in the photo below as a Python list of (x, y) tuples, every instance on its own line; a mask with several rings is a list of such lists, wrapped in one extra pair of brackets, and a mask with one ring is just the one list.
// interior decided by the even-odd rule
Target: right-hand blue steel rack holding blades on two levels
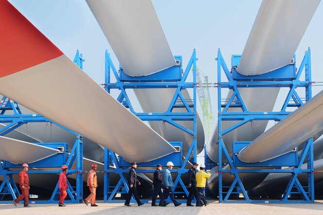
[[(240, 55), (232, 56), (232, 69), (229, 71), (224, 59), (221, 55), (220, 49), (218, 50), (218, 132), (219, 132), (219, 202), (222, 203), (311, 203), (314, 202), (314, 165), (313, 165), (313, 138), (309, 138), (300, 155), (298, 155), (298, 148), (295, 151), (289, 152), (285, 155), (271, 159), (266, 162), (259, 163), (244, 163), (238, 160), (237, 153), (250, 144), (250, 142), (234, 142), (233, 155), (230, 155), (225, 148), (222, 136), (237, 129), (243, 124), (253, 120), (274, 120), (280, 121), (288, 116), (291, 112), (286, 111), (287, 107), (299, 107), (303, 104), (302, 99), (296, 92), (297, 87), (304, 87), (306, 92), (306, 101), (312, 97), (311, 89), (311, 62), (310, 62), (310, 49), (305, 52), (303, 61), (297, 71), (295, 56), (294, 62), (276, 69), (272, 72), (263, 75), (243, 76), (236, 71)], [(221, 81), (221, 69), (223, 69), (228, 82)], [(300, 81), (302, 71), (305, 71), (305, 81)], [(279, 112), (250, 112), (248, 111), (243, 98), (239, 93), (240, 87), (288, 87), (289, 93), (284, 102), (284, 105)], [(221, 89), (228, 88), (233, 91), (231, 98), (222, 103)], [(235, 100), (234, 100), (235, 99)], [(242, 112), (227, 112), (228, 108), (241, 108)], [(237, 120), (237, 124), (222, 131), (222, 121)], [(222, 169), (222, 157), (228, 160), (230, 169)], [(307, 168), (302, 169), (305, 158), (307, 158)], [(239, 166), (251, 167), (251, 169), (238, 169)], [(289, 166), (288, 169), (282, 169), (283, 166)], [(252, 167), (267, 167), (264, 169), (253, 169)], [(272, 167), (272, 169), (268, 169)], [(291, 173), (289, 184), (280, 200), (253, 200), (248, 197), (243, 183), (239, 178), (239, 173)], [(307, 186), (302, 186), (298, 181), (297, 176), (301, 173), (307, 174)], [(234, 182), (231, 186), (222, 185), (222, 174), (232, 174), (235, 176)], [(296, 188), (296, 192), (292, 189)], [(230, 200), (230, 195), (243, 194), (244, 200)], [(290, 194), (299, 194), (302, 200), (289, 199)]]

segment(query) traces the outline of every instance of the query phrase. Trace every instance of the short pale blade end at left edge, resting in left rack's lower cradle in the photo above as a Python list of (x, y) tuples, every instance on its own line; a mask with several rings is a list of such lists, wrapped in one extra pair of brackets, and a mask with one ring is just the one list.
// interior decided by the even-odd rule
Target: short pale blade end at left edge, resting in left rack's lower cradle
[(33, 163), (60, 152), (58, 149), (0, 136), (0, 160), (13, 164)]

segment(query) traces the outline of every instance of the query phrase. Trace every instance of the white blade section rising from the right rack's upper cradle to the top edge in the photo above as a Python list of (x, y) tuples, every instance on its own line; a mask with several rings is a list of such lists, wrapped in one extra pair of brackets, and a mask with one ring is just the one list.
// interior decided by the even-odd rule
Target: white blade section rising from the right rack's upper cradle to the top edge
[(288, 65), (321, 0), (263, 0), (237, 71), (258, 75)]

